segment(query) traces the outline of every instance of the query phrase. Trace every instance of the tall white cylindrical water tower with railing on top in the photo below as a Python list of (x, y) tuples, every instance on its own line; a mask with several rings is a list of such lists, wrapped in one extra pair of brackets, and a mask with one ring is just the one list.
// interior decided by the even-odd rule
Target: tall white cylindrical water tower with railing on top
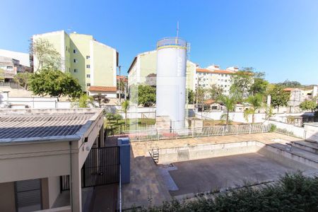
[(157, 42), (156, 116), (170, 120), (172, 129), (184, 128), (187, 42), (167, 37)]

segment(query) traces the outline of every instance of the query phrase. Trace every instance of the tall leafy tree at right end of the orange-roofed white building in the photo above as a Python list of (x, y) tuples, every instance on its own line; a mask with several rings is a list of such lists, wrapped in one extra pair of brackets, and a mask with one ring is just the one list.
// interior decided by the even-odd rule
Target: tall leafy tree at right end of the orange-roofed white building
[(230, 93), (237, 95), (238, 100), (242, 100), (249, 94), (249, 90), (253, 84), (253, 68), (243, 68), (232, 75), (232, 86)]

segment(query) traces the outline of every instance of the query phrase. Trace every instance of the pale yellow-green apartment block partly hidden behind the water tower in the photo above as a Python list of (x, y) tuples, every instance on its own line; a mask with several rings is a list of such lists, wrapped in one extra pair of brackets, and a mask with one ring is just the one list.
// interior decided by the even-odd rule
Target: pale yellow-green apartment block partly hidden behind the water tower
[[(134, 57), (128, 69), (128, 86), (137, 84), (149, 84), (153, 86), (157, 73), (157, 50), (143, 52)], [(187, 61), (186, 86), (190, 90), (195, 89), (196, 64)]]

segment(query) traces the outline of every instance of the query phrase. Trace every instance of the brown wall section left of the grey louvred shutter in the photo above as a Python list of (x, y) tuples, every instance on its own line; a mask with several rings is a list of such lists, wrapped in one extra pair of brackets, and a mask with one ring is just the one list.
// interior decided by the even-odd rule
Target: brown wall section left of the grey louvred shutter
[(0, 183), (0, 211), (16, 212), (14, 182)]

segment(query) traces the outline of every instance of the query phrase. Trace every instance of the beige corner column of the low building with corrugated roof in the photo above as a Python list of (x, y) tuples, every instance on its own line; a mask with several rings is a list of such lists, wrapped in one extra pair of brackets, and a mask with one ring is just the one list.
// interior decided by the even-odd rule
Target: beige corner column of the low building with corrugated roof
[[(72, 146), (76, 146), (76, 141)], [(71, 154), (71, 207), (72, 212), (82, 211), (82, 188), (81, 188), (81, 167), (79, 165), (78, 153)]]

